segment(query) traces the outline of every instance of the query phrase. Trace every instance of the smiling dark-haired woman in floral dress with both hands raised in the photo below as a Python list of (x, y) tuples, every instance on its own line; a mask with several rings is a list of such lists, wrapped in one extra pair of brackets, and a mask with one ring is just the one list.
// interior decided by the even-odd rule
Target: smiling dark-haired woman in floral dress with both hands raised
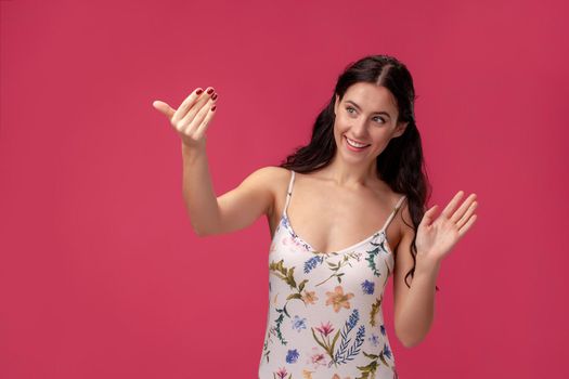
[(266, 214), (269, 312), (259, 378), (397, 378), (382, 312), (393, 274), (395, 330), (419, 343), (434, 317), (442, 259), (476, 220), (460, 191), (436, 217), (415, 125), (415, 91), (391, 56), (366, 56), (339, 76), (310, 143), (216, 198), (205, 132), (212, 88), (178, 109), (154, 106), (180, 133), (183, 194), (201, 235), (230, 233)]

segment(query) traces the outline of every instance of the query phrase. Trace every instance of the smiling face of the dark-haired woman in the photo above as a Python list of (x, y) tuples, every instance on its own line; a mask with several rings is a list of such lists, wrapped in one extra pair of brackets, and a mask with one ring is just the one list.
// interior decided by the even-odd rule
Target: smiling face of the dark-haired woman
[[(351, 162), (372, 162), (392, 138), (403, 134), (406, 122), (397, 123), (395, 96), (380, 86), (367, 82), (352, 84), (344, 99), (334, 104), (336, 154)], [(351, 146), (348, 139), (358, 146)]]

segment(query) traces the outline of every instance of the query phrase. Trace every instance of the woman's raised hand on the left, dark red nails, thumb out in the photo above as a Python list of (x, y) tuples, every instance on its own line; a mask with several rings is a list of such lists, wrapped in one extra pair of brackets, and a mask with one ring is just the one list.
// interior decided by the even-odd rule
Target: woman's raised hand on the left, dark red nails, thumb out
[(197, 148), (205, 147), (205, 132), (214, 118), (217, 99), (214, 88), (208, 87), (205, 91), (196, 88), (178, 109), (159, 100), (152, 105), (168, 117), (185, 146)]

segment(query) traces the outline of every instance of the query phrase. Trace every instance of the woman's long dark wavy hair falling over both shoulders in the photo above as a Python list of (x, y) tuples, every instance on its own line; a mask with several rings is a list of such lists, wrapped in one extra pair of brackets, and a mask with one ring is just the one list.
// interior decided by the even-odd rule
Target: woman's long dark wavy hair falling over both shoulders
[(404, 220), (403, 222), (415, 231), (410, 251), (413, 257), (413, 267), (405, 275), (405, 284), (411, 287), (408, 277), (413, 278), (415, 273), (416, 232), (426, 211), (425, 205), (427, 197), (430, 197), (431, 188), (423, 159), (421, 135), (415, 123), (413, 78), (404, 64), (392, 56), (371, 55), (348, 65), (338, 77), (331, 101), (316, 117), (310, 143), (298, 147), (281, 162), (280, 167), (298, 172), (311, 172), (329, 165), (336, 153), (334, 140), (336, 94), (341, 100), (348, 88), (358, 82), (383, 86), (391, 91), (397, 100), (398, 122), (408, 122), (403, 134), (391, 139), (377, 156), (377, 173), (393, 192), (406, 195), (413, 225), (409, 225)]

